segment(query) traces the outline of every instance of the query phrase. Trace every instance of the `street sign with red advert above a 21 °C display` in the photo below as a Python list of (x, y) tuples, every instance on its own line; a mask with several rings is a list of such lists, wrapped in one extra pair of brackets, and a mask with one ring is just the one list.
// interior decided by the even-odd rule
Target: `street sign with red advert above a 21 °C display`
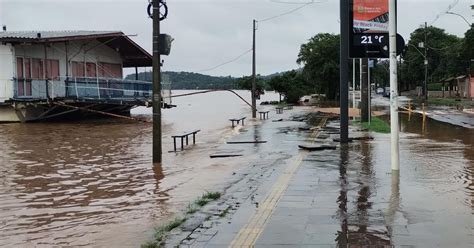
[[(388, 0), (350, 0), (351, 58), (388, 58)], [(397, 35), (397, 54), (405, 41)]]

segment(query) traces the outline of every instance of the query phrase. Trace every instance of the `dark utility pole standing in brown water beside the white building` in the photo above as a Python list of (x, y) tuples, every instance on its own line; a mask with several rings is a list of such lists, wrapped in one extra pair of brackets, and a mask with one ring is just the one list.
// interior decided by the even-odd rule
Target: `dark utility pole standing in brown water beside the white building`
[(161, 163), (161, 58), (159, 51), (160, 1), (153, 0), (153, 164)]

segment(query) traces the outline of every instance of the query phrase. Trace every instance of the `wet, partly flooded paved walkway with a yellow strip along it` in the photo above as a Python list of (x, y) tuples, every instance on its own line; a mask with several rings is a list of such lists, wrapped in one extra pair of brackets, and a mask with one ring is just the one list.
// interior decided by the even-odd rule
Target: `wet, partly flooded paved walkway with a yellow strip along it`
[[(352, 137), (369, 135), (356, 129), (352, 127)], [(204, 210), (207, 217), (201, 224), (175, 233), (169, 247), (474, 245), (472, 181), (469, 185), (453, 181), (453, 171), (464, 166), (468, 166), (464, 173), (472, 170), (469, 164), (437, 151), (431, 159), (451, 162), (452, 167), (436, 168), (438, 174), (427, 175), (425, 170), (434, 169), (432, 160), (413, 159), (419, 155), (414, 148), (426, 140), (401, 135), (400, 178), (390, 169), (388, 135), (371, 134), (374, 141), (308, 152), (297, 146), (334, 144), (339, 136), (337, 120), (321, 129), (269, 122), (258, 130), (238, 138), (268, 141), (258, 145), (260, 160), (242, 172), (243, 178), (226, 190), (220, 202)]]

